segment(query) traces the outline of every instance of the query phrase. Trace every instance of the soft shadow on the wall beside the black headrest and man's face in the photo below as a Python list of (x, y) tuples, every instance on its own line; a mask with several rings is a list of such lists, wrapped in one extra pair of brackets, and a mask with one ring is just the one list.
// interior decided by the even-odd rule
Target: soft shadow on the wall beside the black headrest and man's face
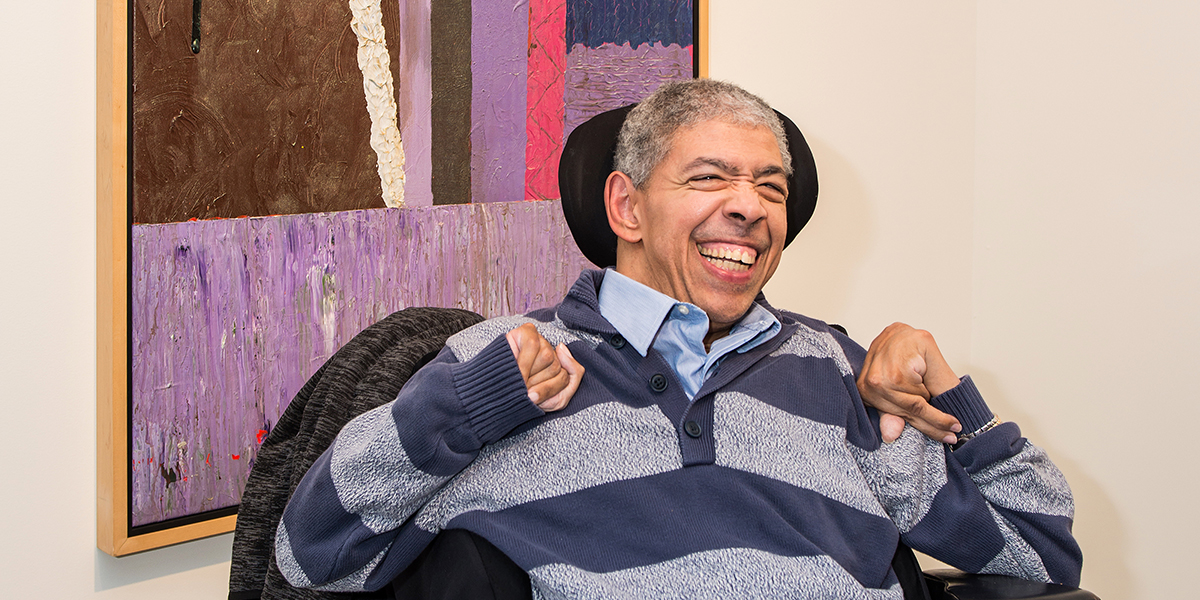
[[(877, 228), (854, 167), (824, 140), (808, 142), (817, 163), (816, 211), (784, 251), (780, 271), (767, 284), (766, 293), (779, 308), (839, 323), (854, 294), (853, 283), (875, 244)], [(865, 335), (851, 331), (851, 337)]]

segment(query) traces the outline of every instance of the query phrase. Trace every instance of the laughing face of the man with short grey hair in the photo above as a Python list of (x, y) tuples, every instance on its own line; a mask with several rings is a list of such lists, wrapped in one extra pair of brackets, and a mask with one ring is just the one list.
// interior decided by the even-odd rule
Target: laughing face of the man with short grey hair
[(724, 336), (775, 272), (787, 236), (775, 137), (722, 121), (682, 128), (643, 190), (629, 187), (636, 227), (626, 241), (636, 242), (617, 270), (703, 308), (706, 342)]

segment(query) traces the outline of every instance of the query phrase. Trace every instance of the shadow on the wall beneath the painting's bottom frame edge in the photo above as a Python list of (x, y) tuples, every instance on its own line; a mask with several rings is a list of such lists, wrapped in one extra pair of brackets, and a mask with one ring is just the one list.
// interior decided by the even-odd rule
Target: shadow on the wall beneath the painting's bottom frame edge
[(95, 590), (119, 588), (169, 575), (228, 563), (233, 556), (233, 534), (227, 533), (203, 540), (176, 544), (166, 548), (114, 558), (92, 548), (95, 560)]

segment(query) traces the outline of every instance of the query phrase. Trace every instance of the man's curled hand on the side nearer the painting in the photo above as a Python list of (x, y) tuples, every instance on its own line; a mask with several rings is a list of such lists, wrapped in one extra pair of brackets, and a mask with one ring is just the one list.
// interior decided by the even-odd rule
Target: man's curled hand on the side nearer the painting
[(566, 408), (583, 379), (583, 365), (575, 360), (566, 344), (554, 348), (533, 323), (509, 331), (505, 337), (526, 380), (529, 400), (547, 413)]

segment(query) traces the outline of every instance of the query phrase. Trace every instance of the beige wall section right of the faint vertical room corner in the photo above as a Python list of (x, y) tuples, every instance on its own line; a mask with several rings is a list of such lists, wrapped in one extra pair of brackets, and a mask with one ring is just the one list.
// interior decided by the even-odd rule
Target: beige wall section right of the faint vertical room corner
[(971, 360), (1067, 470), (1108, 598), (1195, 596), (1198, 24), (979, 4)]

